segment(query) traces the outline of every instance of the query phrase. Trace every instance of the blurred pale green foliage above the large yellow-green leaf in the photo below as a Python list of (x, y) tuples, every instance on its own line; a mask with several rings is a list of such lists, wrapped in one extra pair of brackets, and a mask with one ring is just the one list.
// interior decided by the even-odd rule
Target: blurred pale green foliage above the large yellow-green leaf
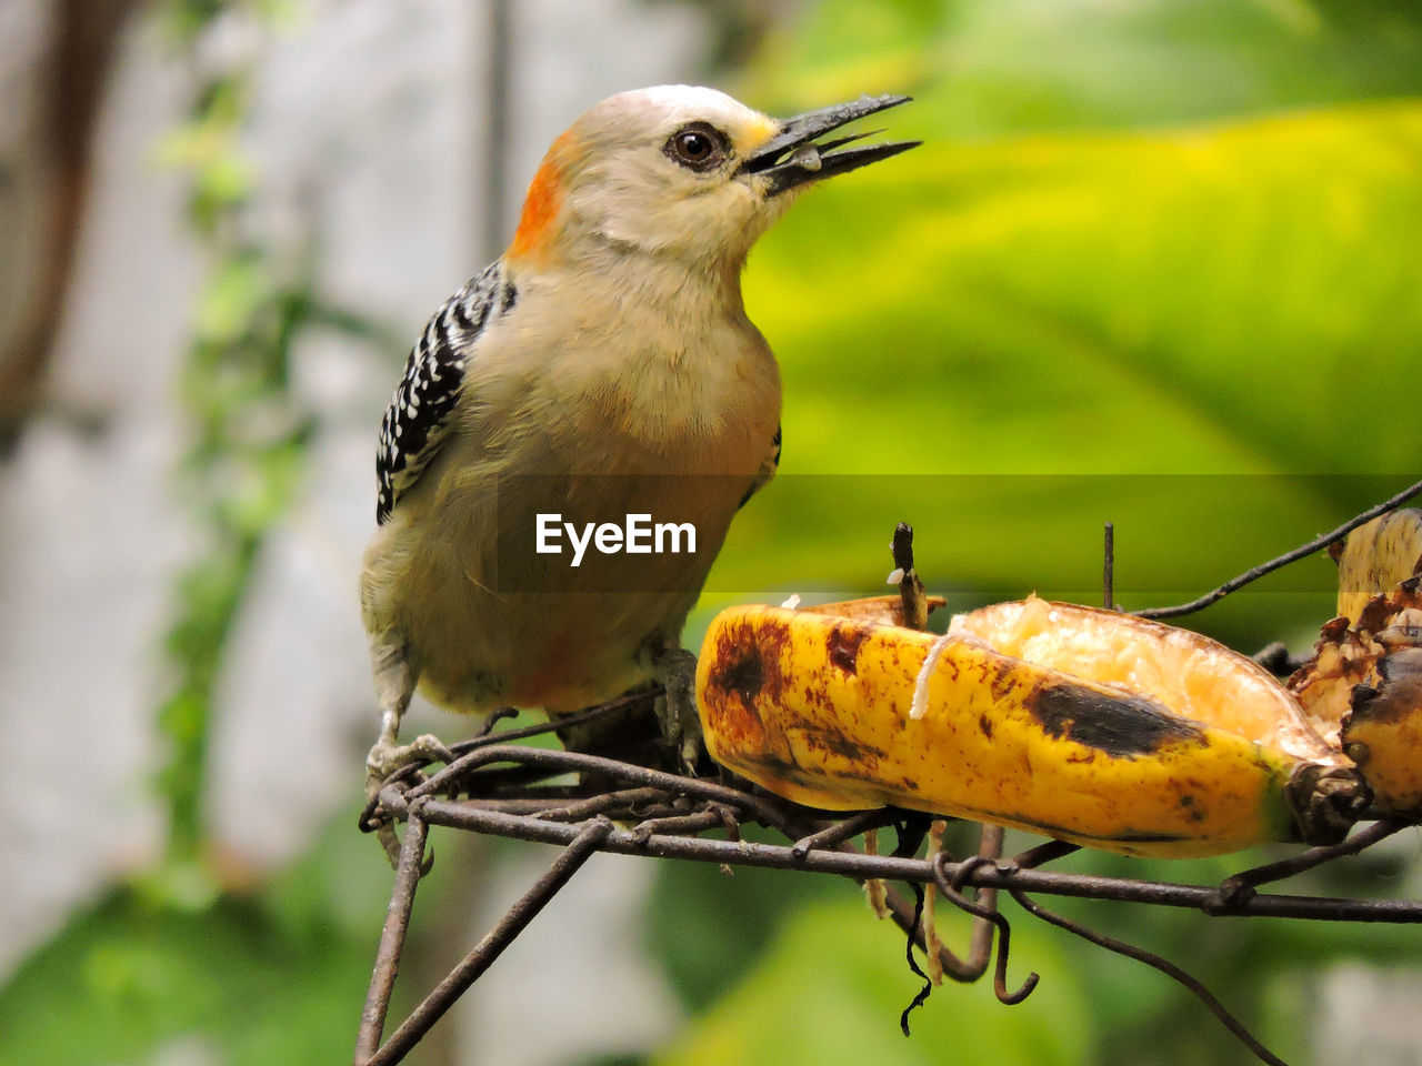
[(742, 88), (776, 114), (866, 91), (913, 92), (936, 141), (1192, 122), (1422, 92), (1422, 24), (1408, 0), (816, 0)]

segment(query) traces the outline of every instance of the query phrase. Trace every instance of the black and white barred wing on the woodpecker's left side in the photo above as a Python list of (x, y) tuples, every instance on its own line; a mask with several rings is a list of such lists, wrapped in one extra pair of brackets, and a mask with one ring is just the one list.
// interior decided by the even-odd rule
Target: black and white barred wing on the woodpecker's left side
[(405, 375), (385, 408), (375, 453), (380, 499), (375, 522), (390, 517), (400, 497), (444, 443), (464, 389), (465, 367), (491, 318), (513, 306), (515, 290), (493, 263), (455, 293), (425, 325), (410, 351)]

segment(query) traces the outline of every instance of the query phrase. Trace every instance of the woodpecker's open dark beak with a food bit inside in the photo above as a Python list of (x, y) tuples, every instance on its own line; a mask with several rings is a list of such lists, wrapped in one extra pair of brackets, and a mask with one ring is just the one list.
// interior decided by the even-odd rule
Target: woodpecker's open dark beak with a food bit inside
[[(745, 162), (741, 163), (739, 173), (764, 176), (768, 182), (765, 195), (776, 196), (805, 182), (818, 182), (836, 173), (846, 173), (865, 163), (907, 152), (923, 142), (887, 141), (862, 148), (843, 148), (852, 141), (882, 132), (879, 129), (850, 134), (819, 144), (815, 144), (815, 138), (839, 129), (856, 118), (899, 107), (909, 99), (910, 97), (860, 97), (853, 104), (836, 104), (788, 118), (769, 141), (747, 156)], [(833, 151), (836, 148), (842, 151)]]

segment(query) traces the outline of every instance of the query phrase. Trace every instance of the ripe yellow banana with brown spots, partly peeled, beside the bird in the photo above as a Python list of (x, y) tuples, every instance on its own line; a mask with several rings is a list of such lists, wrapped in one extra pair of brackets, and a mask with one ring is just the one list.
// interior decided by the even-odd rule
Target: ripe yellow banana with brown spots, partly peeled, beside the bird
[(1365, 803), (1288, 692), (1197, 634), (1035, 598), (941, 638), (840, 610), (734, 607), (702, 645), (708, 750), (786, 799), (1169, 857), (1337, 840)]

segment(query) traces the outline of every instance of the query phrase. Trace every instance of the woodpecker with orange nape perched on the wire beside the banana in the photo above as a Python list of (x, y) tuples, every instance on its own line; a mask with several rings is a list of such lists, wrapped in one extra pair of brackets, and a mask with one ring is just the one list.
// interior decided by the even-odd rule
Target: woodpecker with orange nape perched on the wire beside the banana
[[(417, 685), (456, 711), (562, 715), (663, 677), (668, 738), (694, 728), (681, 627), (781, 452), (779, 371), (741, 269), (796, 190), (917, 144), (813, 144), (904, 99), (776, 121), (670, 85), (611, 97), (553, 142), (508, 252), (429, 320), (385, 412), (361, 574), (371, 787), (441, 750), (397, 746)], [(573, 523), (545, 519), (565, 554), (529, 543), (538, 515)], [(631, 515), (691, 523), (697, 550), (570, 566), (584, 523)]]

